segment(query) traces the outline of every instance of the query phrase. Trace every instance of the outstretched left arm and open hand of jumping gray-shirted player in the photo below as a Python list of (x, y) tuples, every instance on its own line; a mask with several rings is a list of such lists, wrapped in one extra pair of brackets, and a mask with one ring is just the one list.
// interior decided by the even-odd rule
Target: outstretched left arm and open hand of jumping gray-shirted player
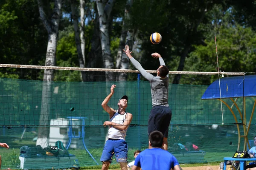
[(130, 52), (129, 46), (125, 45), (125, 50), (123, 49), (127, 57), (130, 59), (131, 63), (134, 65), (135, 68), (137, 68), (138, 71), (140, 71), (140, 74), (145, 77), (148, 81), (151, 81), (153, 79), (153, 75), (145, 71), (145, 69), (141, 66), (140, 62), (138, 62), (134, 57), (131, 56), (132, 51)]

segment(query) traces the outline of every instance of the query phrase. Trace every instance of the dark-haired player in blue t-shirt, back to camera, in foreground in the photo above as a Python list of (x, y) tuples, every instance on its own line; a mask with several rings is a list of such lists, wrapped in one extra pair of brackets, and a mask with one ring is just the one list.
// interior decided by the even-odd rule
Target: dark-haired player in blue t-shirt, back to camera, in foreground
[(167, 150), (163, 150), (163, 133), (153, 131), (149, 135), (151, 149), (143, 150), (135, 159), (132, 170), (182, 170), (179, 162)]

